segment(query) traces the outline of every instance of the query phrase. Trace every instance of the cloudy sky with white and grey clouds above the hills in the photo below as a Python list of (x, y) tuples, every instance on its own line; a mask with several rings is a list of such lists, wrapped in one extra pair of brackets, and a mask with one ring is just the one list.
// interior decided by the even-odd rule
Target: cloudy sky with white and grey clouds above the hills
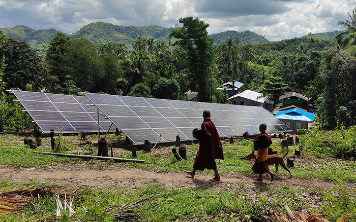
[(116, 25), (181, 25), (192, 16), (209, 24), (209, 34), (254, 31), (269, 41), (345, 29), (356, 0), (0, 0), (0, 27), (25, 25), (74, 33), (102, 21)]

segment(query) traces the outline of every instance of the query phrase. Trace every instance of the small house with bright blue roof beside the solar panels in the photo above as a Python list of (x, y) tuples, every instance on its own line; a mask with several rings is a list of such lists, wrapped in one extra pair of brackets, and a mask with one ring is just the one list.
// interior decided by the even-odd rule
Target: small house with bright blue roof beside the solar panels
[(298, 133), (298, 129), (310, 128), (315, 114), (305, 112), (299, 108), (293, 108), (279, 111), (275, 117), (292, 129), (293, 133)]

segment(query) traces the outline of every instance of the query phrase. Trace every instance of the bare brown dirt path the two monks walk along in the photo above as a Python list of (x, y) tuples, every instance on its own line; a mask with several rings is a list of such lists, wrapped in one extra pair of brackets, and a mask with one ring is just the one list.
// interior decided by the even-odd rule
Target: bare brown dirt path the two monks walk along
[[(213, 173), (213, 172), (212, 172)], [(291, 187), (322, 187), (332, 189), (334, 183), (316, 180), (302, 180), (297, 178), (287, 178), (277, 174), (275, 181), (270, 182), (270, 177), (265, 175), (263, 182), (254, 181), (255, 176), (239, 175), (235, 173), (224, 174), (221, 181), (210, 182), (209, 178), (213, 174), (199, 173), (195, 178), (188, 177), (186, 173), (160, 173), (145, 169), (128, 168), (120, 165), (104, 165), (101, 169), (93, 168), (88, 163), (60, 163), (45, 167), (19, 168), (13, 169), (0, 166), (0, 175), (2, 178), (11, 178), (14, 181), (33, 181), (37, 180), (72, 184), (74, 186), (97, 187), (100, 189), (110, 189), (114, 187), (139, 187), (144, 184), (163, 183), (167, 189), (194, 189), (205, 187), (234, 188), (258, 188), (268, 184), (275, 186), (284, 186), (288, 183)]]

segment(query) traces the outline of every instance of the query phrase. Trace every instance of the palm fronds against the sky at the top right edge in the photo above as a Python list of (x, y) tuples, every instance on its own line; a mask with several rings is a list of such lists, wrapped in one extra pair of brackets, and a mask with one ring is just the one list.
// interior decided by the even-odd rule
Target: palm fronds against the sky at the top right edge
[(346, 27), (340, 34), (335, 36), (335, 40), (341, 43), (341, 48), (347, 48), (350, 45), (356, 45), (356, 6), (352, 10), (352, 14), (348, 14), (348, 20), (339, 21), (337, 24)]

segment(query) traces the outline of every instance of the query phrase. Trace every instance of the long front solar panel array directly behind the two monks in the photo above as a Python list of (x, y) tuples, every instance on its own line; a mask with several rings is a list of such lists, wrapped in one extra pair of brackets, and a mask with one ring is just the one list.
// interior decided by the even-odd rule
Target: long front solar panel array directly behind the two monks
[(259, 106), (229, 105), (168, 99), (141, 98), (84, 93), (123, 131), (134, 144), (144, 140), (171, 142), (194, 139), (192, 130), (200, 128), (202, 114), (209, 109), (220, 137), (259, 134), (259, 124), (266, 123), (267, 133), (292, 131)]

